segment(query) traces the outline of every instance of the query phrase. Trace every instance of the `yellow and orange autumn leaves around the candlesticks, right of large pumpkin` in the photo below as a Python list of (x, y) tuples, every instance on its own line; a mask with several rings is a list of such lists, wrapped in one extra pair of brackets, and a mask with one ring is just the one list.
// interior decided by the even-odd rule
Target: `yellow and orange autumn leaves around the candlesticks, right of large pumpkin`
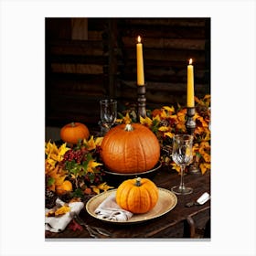
[[(194, 165), (200, 169), (202, 174), (210, 170), (210, 95), (205, 95), (203, 99), (195, 97), (196, 114), (195, 120), (197, 127), (194, 133), (193, 154)], [(140, 122), (155, 133), (162, 147), (172, 145), (172, 138), (177, 133), (187, 133), (187, 108), (177, 104), (174, 106), (164, 106), (161, 109), (147, 111), (146, 117), (137, 118), (134, 109), (125, 110), (119, 113), (118, 123), (137, 123)], [(162, 163), (172, 165), (173, 169), (179, 172), (179, 166), (176, 165), (168, 154), (161, 156)]]

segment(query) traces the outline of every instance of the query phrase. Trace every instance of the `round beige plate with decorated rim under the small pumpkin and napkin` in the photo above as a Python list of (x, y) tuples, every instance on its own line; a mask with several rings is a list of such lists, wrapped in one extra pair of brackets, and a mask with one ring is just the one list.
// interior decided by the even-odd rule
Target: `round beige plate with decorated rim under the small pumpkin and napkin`
[(120, 224), (129, 224), (129, 223), (131, 224), (131, 223), (146, 221), (149, 219), (155, 219), (169, 212), (173, 208), (175, 208), (177, 203), (177, 197), (173, 192), (161, 187), (158, 187), (158, 191), (159, 191), (159, 197), (155, 205), (155, 208), (143, 214), (133, 214), (133, 217), (126, 221), (101, 219), (94, 213), (95, 209), (101, 204), (101, 202), (106, 197), (109, 197), (110, 195), (112, 195), (112, 193), (115, 193), (116, 189), (112, 189), (112, 190), (103, 192), (95, 197), (91, 197), (91, 199), (86, 204), (86, 210), (92, 217), (96, 219), (101, 219), (103, 221), (120, 223)]

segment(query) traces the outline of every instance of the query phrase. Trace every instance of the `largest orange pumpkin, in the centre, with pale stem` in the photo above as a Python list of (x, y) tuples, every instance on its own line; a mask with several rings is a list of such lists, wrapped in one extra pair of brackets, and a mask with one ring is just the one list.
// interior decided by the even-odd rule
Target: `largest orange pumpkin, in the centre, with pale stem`
[(160, 144), (153, 132), (140, 123), (113, 127), (101, 143), (104, 165), (114, 173), (133, 174), (152, 169), (160, 157)]

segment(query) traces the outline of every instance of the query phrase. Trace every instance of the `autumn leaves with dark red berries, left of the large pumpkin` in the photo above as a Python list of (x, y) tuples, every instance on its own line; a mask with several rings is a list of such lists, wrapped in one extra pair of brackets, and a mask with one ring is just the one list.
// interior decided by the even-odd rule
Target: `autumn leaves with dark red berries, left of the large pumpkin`
[(46, 197), (51, 200), (61, 197), (69, 201), (73, 197), (83, 198), (88, 194), (99, 194), (112, 188), (103, 182), (102, 164), (97, 162), (101, 140), (102, 137), (94, 139), (91, 136), (88, 141), (83, 140), (72, 148), (66, 143), (60, 146), (46, 143)]

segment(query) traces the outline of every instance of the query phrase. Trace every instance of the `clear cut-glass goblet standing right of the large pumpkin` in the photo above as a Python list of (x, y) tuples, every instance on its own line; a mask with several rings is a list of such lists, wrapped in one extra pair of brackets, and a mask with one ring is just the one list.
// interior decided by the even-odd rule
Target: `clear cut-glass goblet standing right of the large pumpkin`
[(193, 188), (185, 187), (184, 171), (186, 165), (189, 165), (193, 159), (193, 136), (189, 134), (176, 134), (173, 137), (172, 158), (176, 165), (179, 165), (180, 184), (172, 187), (172, 191), (177, 195), (187, 195), (193, 192)]

